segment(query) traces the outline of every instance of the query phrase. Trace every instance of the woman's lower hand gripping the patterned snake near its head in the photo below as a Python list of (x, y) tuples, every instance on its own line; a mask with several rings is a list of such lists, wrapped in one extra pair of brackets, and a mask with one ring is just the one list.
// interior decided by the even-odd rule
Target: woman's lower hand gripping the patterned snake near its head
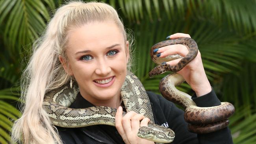
[[(140, 122), (141, 121), (141, 122)], [(126, 144), (154, 144), (154, 142), (140, 138), (137, 132), (141, 126), (148, 126), (149, 118), (130, 111), (122, 117), (122, 107), (115, 114), (115, 127)]]

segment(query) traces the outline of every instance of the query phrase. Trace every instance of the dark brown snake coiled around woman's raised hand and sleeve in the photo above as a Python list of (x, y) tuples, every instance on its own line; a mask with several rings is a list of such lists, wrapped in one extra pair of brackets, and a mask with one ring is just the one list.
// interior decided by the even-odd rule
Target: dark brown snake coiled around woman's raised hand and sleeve
[[(172, 56), (160, 58), (156, 56), (154, 50), (156, 48), (173, 44), (185, 45), (189, 50), (188, 54), (185, 57), (182, 57), (182, 59), (174, 66), (168, 65), (166, 63), (161, 64), (173, 59), (178, 59), (179, 57), (175, 55), (174, 58)], [(178, 38), (159, 42), (152, 46), (150, 55), (152, 61), (161, 65), (158, 65), (152, 69), (149, 72), (149, 76), (152, 77), (155, 75), (163, 74), (166, 71), (177, 72), (184, 68), (184, 66), (186, 66), (190, 61), (192, 61), (197, 56), (197, 53), (197, 43), (191, 38)], [(234, 114), (234, 106), (231, 103), (222, 102), (221, 105), (214, 107), (197, 107), (189, 94), (176, 89), (175, 86), (180, 85), (183, 82), (184, 79), (180, 74), (169, 74), (160, 81), (159, 90), (167, 100), (184, 107), (184, 119), (189, 123), (189, 131), (193, 133), (210, 133), (227, 127), (229, 124), (227, 118)]]

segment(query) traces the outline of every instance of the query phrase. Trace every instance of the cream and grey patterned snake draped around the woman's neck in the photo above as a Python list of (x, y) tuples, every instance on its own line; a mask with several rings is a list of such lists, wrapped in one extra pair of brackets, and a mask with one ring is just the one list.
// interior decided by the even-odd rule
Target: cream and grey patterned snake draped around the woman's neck
[[(74, 102), (79, 89), (74, 83), (72, 89), (68, 85), (45, 94), (43, 108), (51, 122), (60, 127), (85, 127), (105, 124), (115, 126), (116, 109), (112, 107), (96, 106), (84, 109), (69, 108)], [(150, 119), (148, 127), (141, 127), (137, 135), (159, 143), (170, 143), (175, 134), (168, 127), (154, 124), (152, 108), (147, 92), (139, 79), (132, 73), (126, 76), (121, 88), (121, 98), (126, 111), (135, 111)], [(123, 112), (123, 116), (126, 113)]]

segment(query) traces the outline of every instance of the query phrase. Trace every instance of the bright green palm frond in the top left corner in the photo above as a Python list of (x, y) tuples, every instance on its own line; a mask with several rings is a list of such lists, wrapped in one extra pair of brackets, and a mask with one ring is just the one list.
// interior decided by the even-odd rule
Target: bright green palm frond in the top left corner
[[(45, 2), (55, 8), (53, 0)], [(46, 6), (41, 0), (0, 1), (0, 25), (5, 27), (4, 42), (10, 55), (39, 37), (46, 26), (45, 20), (50, 18)]]

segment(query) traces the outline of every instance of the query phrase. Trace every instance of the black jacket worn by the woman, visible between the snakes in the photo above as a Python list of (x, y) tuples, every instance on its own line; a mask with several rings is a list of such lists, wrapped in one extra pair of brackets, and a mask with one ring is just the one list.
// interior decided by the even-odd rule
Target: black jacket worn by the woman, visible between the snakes
[[(230, 130), (224, 128), (208, 134), (195, 134), (187, 130), (184, 120), (184, 111), (177, 108), (174, 103), (169, 102), (160, 95), (147, 92), (154, 114), (154, 121), (158, 125), (171, 128), (175, 133), (171, 144), (232, 144)], [(210, 93), (193, 101), (200, 107), (220, 105), (220, 101), (212, 90)], [(94, 106), (78, 94), (76, 100), (70, 107), (85, 108)], [(124, 144), (117, 129), (113, 126), (96, 125), (82, 128), (57, 127), (59, 135), (64, 144)]]

